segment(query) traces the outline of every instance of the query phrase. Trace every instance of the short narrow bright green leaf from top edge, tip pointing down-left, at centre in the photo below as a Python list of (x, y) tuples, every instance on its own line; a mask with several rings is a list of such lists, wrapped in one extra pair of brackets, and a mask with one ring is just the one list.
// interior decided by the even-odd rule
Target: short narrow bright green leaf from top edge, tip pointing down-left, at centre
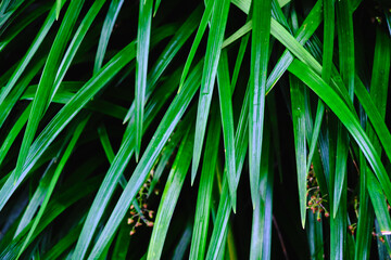
[(188, 57), (186, 60), (186, 63), (185, 63), (182, 75), (180, 77), (180, 83), (179, 83), (178, 92), (181, 90), (181, 87), (182, 87), (182, 84), (185, 82), (185, 79), (186, 79), (186, 77), (187, 77), (187, 75), (189, 73), (189, 69), (190, 69), (191, 63), (192, 63), (192, 61), (194, 58), (198, 47), (200, 46), (201, 39), (202, 39), (202, 37), (203, 37), (204, 32), (205, 32), (207, 23), (210, 22), (212, 11), (213, 11), (213, 6), (214, 6), (215, 2), (216, 1), (207, 1), (207, 3), (206, 3), (205, 11), (203, 12), (201, 22), (198, 25), (194, 41), (193, 41), (193, 43), (191, 46), (189, 55), (188, 55)]

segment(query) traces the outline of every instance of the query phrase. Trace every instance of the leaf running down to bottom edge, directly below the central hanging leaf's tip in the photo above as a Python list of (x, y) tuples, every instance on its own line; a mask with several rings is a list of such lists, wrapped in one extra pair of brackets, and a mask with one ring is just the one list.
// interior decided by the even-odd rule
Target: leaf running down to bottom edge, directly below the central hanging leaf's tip
[(211, 214), (212, 190), (217, 161), (222, 122), (218, 120), (216, 106), (212, 107), (207, 139), (201, 170), (200, 186), (197, 195), (194, 225), (191, 238), (189, 259), (204, 259), (207, 226)]

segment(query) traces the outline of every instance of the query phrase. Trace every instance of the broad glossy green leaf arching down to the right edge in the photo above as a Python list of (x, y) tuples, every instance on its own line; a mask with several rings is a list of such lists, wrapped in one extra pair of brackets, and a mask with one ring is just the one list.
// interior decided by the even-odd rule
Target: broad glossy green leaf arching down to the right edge
[(360, 126), (356, 116), (349, 109), (341, 98), (332, 91), (332, 89), (323, 81), (308, 66), (302, 62), (294, 60), (289, 66), (289, 70), (307, 84), (324, 102), (332, 109), (337, 117), (349, 130), (354, 138), (362, 152), (364, 153), (369, 165), (374, 169), (381, 187), (383, 188), (388, 199), (391, 199), (391, 182), (387, 171), (381, 164), (378, 153), (376, 153), (368, 136)]

